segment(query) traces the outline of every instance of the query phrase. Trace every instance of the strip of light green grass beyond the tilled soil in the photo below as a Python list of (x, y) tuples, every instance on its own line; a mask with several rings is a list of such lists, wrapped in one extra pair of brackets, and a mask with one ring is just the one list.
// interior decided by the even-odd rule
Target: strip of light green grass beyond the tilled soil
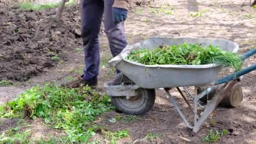
[[(75, 0), (69, 0), (69, 2), (65, 3), (65, 6), (71, 6), (73, 4), (75, 4)], [(61, 6), (61, 3), (44, 3), (44, 4), (34, 4), (34, 3), (30, 3), (30, 2), (23, 2), (20, 4), (20, 8), (23, 10), (34, 10), (34, 11), (38, 11), (38, 10), (43, 10), (43, 9), (48, 9), (48, 8), (58, 8)]]

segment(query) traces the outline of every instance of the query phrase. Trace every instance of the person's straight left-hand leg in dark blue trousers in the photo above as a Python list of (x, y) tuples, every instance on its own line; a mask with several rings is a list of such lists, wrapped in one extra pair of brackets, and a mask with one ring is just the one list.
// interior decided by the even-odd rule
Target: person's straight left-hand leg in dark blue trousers
[(103, 0), (82, 0), (81, 35), (85, 53), (83, 79), (94, 81), (99, 75), (99, 31), (104, 11)]

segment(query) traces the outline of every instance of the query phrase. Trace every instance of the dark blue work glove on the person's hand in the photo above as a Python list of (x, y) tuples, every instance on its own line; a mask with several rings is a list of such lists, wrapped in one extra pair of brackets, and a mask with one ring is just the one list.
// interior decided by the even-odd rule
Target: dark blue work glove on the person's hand
[(112, 9), (112, 18), (115, 24), (125, 21), (127, 18), (127, 10), (124, 8), (115, 8)]

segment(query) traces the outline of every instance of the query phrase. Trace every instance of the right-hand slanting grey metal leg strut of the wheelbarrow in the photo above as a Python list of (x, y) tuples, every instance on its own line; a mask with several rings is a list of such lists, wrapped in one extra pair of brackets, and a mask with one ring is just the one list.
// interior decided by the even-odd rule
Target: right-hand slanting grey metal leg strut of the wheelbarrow
[[(211, 99), (210, 101), (207, 101), (206, 108), (202, 113), (202, 116), (200, 117), (199, 120), (195, 120), (193, 132), (197, 133), (199, 130), (200, 126), (203, 124), (203, 122), (207, 119), (207, 117), (213, 112), (213, 110), (219, 105), (221, 100), (227, 96), (227, 93), (234, 87), (236, 83), (239, 83), (238, 81), (231, 81), (230, 83), (226, 83), (221, 88), (219, 91), (216, 93), (216, 95)], [(228, 86), (227, 86), (228, 85)], [(197, 98), (195, 98), (197, 99)]]

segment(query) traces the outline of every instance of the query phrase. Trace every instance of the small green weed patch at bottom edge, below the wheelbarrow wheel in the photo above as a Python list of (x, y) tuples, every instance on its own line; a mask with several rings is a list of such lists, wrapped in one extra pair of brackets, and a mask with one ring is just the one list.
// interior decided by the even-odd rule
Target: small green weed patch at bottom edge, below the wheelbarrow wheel
[(105, 141), (110, 141), (110, 144), (117, 144), (118, 139), (129, 137), (128, 131), (116, 131), (116, 132), (110, 132), (110, 131), (104, 131), (102, 130), (102, 133), (105, 136)]

